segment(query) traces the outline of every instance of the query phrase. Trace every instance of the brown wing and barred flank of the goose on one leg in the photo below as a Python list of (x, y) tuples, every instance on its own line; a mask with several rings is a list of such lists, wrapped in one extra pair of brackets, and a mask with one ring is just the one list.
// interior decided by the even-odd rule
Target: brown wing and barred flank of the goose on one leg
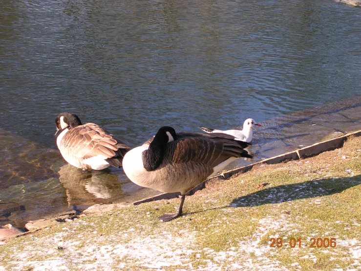
[[(225, 134), (177, 133), (177, 139), (167, 144), (162, 164), (137, 184), (163, 192), (185, 194), (223, 167), (229, 158), (249, 157), (234, 136)], [(148, 140), (147, 142), (149, 142)], [(143, 179), (143, 180), (142, 180)]]

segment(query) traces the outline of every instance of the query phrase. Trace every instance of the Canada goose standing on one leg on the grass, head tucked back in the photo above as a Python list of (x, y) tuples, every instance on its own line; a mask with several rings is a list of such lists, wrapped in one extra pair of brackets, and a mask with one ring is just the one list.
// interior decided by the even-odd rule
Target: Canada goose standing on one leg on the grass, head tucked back
[(164, 126), (145, 144), (127, 152), (123, 169), (130, 181), (140, 186), (181, 193), (176, 213), (159, 217), (169, 221), (182, 214), (189, 190), (236, 158), (252, 158), (243, 150), (248, 145), (226, 134), (175, 133), (172, 127)]

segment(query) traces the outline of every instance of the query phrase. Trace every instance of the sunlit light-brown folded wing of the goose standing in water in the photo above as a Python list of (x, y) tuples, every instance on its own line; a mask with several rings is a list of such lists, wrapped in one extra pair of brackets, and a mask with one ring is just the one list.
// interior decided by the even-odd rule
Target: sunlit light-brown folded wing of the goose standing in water
[(72, 128), (62, 139), (64, 148), (78, 158), (102, 155), (106, 158), (123, 158), (130, 149), (122, 140), (112, 136), (94, 123)]

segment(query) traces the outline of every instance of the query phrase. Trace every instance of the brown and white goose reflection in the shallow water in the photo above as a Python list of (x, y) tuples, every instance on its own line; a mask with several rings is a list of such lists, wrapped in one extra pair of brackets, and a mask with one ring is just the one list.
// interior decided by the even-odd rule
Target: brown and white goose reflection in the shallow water
[(85, 171), (66, 164), (59, 180), (66, 189), (68, 205), (111, 203), (123, 194), (118, 176), (106, 171)]

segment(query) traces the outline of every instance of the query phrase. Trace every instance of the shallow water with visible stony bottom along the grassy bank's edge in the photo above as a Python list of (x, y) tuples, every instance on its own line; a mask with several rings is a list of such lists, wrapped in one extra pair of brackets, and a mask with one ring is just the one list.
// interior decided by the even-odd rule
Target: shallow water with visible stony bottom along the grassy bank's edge
[[(254, 159), (237, 159), (225, 170), (248, 166), (267, 158), (294, 152), (326, 138), (361, 130), (359, 100), (357, 97), (348, 98), (262, 121), (263, 127), (255, 131), (254, 144), (249, 147), (255, 154)], [(42, 148), (38, 143), (29, 142), (0, 129), (1, 135), (6, 135), (6, 140), (9, 141), (7, 145), (15, 146), (15, 143), (20, 143), (24, 147), (16, 150), (10, 148), (6, 153), (8, 157), (5, 156), (10, 159), (10, 163), (4, 164), (6, 168), (3, 176), (15, 174), (15, 179), (8, 183), (9, 186), (3, 183), (7, 188), (0, 191), (0, 204), (5, 203), (0, 205), (3, 211), (2, 216), (0, 211), (0, 226), (11, 223), (23, 229), (28, 221), (54, 217), (74, 209), (81, 212), (96, 203), (127, 205), (159, 195), (158, 191), (140, 188), (130, 182), (122, 170), (83, 174), (65, 164), (57, 150)], [(27, 150), (25, 146), (29, 144), (32, 147)], [(20, 150), (21, 153), (18, 153)], [(34, 155), (37, 158), (36, 163), (29, 159)], [(42, 172), (47, 172), (45, 170), (51, 170), (51, 176), (55, 178), (42, 176)], [(21, 211), (24, 208), (25, 210)]]

